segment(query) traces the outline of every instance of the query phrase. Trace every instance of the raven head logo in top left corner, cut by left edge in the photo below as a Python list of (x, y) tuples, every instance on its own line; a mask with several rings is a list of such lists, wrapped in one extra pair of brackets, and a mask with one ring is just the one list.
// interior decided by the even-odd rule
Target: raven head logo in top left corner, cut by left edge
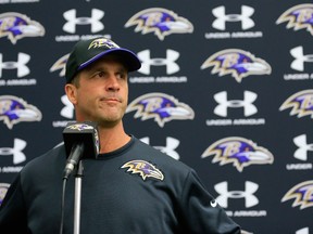
[(43, 35), (42, 25), (30, 21), (26, 15), (16, 12), (0, 14), (0, 38), (8, 37), (13, 44), (24, 37), (42, 37)]

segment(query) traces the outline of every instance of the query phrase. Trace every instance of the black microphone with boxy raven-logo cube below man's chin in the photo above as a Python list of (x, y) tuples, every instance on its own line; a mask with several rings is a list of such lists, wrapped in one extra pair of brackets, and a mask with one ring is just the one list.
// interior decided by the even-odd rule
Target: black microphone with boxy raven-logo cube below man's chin
[(80, 159), (97, 159), (100, 151), (97, 123), (70, 122), (63, 130), (63, 140), (67, 158), (63, 179), (67, 179)]

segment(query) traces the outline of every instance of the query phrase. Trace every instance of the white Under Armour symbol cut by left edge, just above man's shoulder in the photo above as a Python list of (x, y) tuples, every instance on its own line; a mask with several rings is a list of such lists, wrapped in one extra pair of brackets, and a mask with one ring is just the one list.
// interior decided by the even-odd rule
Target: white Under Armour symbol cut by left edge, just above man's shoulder
[(0, 147), (0, 156), (13, 155), (13, 164), (21, 164), (26, 160), (23, 150), (27, 143), (21, 139), (14, 139), (13, 147)]

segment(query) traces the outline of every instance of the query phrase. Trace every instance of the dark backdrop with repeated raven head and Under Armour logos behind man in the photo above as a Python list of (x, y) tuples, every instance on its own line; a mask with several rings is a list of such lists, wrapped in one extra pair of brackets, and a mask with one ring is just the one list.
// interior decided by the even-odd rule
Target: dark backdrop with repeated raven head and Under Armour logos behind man
[(142, 62), (128, 133), (195, 168), (246, 232), (313, 233), (312, 22), (300, 0), (0, 0), (0, 202), (74, 120), (70, 50), (105, 36)]

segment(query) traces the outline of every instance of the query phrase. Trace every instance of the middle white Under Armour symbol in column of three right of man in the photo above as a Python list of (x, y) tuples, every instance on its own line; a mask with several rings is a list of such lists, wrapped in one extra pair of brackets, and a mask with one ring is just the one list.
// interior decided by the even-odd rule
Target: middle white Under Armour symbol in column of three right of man
[(222, 91), (214, 95), (218, 105), (214, 108), (214, 114), (226, 117), (228, 108), (242, 107), (245, 116), (251, 116), (258, 113), (258, 108), (252, 103), (256, 100), (258, 94), (251, 91), (243, 92), (243, 100), (227, 100), (227, 92)]

